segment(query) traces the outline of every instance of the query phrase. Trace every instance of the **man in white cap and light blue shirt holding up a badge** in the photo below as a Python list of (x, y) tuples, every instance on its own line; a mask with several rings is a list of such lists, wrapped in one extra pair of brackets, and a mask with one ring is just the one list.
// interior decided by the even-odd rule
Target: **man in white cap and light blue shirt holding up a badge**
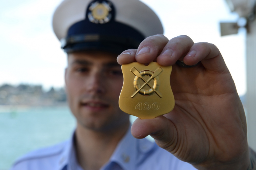
[[(65, 0), (53, 27), (68, 54), (66, 91), (77, 128), (72, 139), (25, 155), (13, 169), (255, 169), (243, 107), (215, 45), (185, 35), (168, 40), (138, 0)], [(121, 65), (173, 66), (174, 110), (137, 119), (131, 133), (118, 105), (118, 54)]]

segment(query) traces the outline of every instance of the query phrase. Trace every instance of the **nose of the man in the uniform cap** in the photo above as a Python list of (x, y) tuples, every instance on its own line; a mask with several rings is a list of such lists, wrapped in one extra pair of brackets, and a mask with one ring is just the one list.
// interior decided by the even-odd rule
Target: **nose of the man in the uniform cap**
[(87, 81), (87, 88), (90, 93), (103, 94), (106, 89), (104, 87), (104, 79), (100, 73), (91, 74)]

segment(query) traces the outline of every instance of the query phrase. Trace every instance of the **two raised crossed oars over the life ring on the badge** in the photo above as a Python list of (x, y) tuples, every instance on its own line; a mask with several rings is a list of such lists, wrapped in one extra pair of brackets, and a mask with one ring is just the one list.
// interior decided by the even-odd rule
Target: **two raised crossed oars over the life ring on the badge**
[(156, 69), (156, 71), (151, 75), (151, 77), (146, 81), (143, 76), (141, 75), (141, 73), (135, 68), (133, 67), (131, 69), (131, 72), (136, 75), (137, 77), (141, 78), (141, 80), (143, 80), (145, 83), (139, 88), (137, 89), (137, 91), (135, 91), (135, 93), (132, 95), (132, 98), (141, 90), (143, 89), (146, 85), (148, 85), (152, 90), (154, 90), (154, 92), (160, 97), (162, 98), (162, 95), (159, 94), (159, 92), (157, 90), (154, 89), (154, 87), (152, 87), (151, 84), (149, 84), (149, 82), (154, 79), (155, 77), (157, 77), (160, 73), (162, 73), (162, 69), (159, 67), (158, 69)]

